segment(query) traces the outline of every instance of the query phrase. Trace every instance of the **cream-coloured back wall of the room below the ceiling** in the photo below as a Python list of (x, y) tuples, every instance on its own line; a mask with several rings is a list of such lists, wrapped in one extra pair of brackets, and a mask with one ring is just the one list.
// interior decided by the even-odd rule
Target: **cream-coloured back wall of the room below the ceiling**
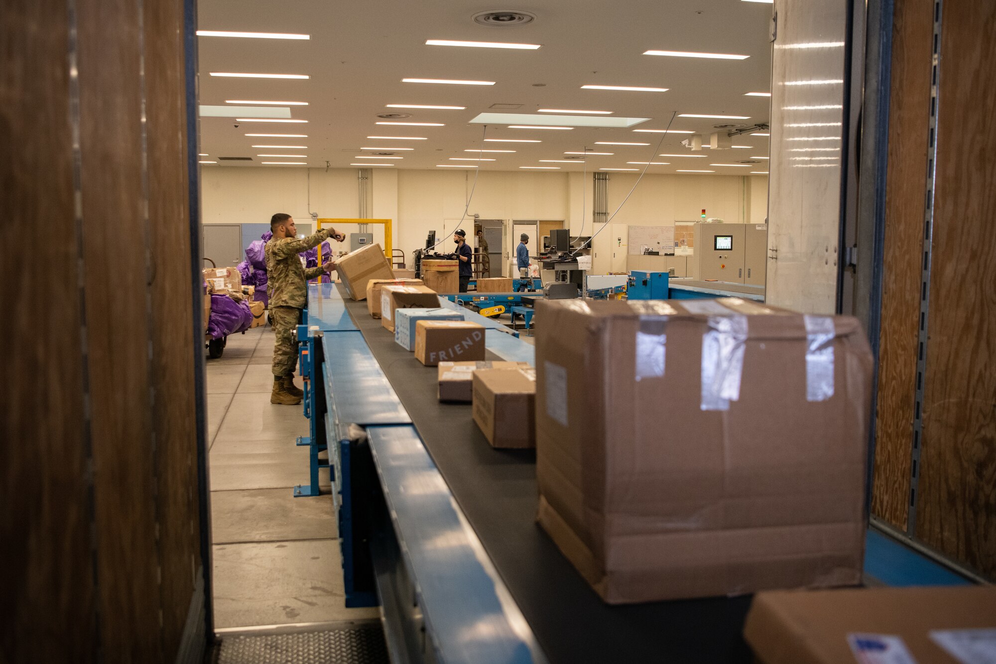
[[(310, 171), (310, 172), (309, 172)], [(471, 187), (473, 169), (395, 170), (373, 168), (374, 217), (394, 219), (393, 245), (405, 253), (423, 245), (429, 230), (450, 233)], [(309, 197), (309, 176), (311, 178)], [(609, 212), (632, 187), (637, 174), (612, 173)], [(478, 174), (468, 214), (483, 219), (567, 219), (578, 232), (582, 218), (580, 172), (488, 171)], [(671, 224), (675, 219), (707, 216), (730, 222), (762, 223), (767, 216), (766, 175), (651, 174), (640, 181), (614, 219), (634, 225)], [(321, 217), (356, 217), (359, 213), (357, 169), (203, 167), (204, 223), (266, 223), (277, 211), (301, 220), (309, 211)], [(592, 180), (585, 185), (586, 234), (591, 230)], [(470, 228), (470, 222), (464, 221)], [(349, 229), (346, 229), (349, 231)], [(381, 241), (379, 228), (374, 239)], [(448, 244), (441, 244), (447, 247)]]

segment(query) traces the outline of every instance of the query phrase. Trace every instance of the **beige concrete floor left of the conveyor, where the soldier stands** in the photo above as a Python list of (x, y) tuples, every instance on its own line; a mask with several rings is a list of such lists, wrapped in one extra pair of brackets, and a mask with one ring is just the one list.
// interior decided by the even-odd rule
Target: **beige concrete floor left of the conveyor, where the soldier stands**
[(308, 448), (295, 446), (308, 421), (300, 406), (270, 403), (272, 357), (264, 326), (207, 360), (215, 627), (375, 619), (344, 604), (332, 496), (292, 495), (308, 482)]

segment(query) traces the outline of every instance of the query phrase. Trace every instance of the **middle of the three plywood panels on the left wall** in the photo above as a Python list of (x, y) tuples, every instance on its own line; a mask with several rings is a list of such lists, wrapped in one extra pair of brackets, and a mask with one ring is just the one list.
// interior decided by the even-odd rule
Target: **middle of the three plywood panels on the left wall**
[(77, 4), (81, 188), (105, 661), (160, 661), (140, 5)]

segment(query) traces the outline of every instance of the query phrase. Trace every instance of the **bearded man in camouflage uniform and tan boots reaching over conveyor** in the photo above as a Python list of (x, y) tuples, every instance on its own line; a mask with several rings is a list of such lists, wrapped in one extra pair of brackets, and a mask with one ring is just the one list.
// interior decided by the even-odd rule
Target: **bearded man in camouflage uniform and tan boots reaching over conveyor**
[(308, 300), (309, 279), (336, 269), (336, 263), (305, 269), (298, 253), (334, 237), (342, 242), (346, 235), (321, 228), (314, 235), (297, 239), (297, 226), (290, 214), (274, 214), (270, 219), (273, 237), (266, 243), (266, 272), (270, 293), (270, 323), (277, 336), (273, 347), (273, 393), (271, 404), (300, 404), (304, 393), (294, 385), (294, 366), (298, 361), (295, 331), (301, 323), (301, 310)]

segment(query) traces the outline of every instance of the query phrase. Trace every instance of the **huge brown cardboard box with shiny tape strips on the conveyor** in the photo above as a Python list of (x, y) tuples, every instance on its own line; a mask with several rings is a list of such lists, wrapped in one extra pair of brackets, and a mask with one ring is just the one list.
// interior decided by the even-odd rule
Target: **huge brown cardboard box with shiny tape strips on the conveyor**
[(603, 599), (861, 581), (856, 319), (739, 298), (537, 309), (539, 521)]

